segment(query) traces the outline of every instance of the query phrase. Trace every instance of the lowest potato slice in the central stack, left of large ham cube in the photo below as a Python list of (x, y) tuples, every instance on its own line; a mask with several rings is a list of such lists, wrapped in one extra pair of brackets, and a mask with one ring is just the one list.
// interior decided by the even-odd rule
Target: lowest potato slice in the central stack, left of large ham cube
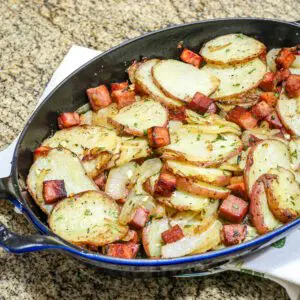
[(209, 197), (198, 196), (191, 193), (176, 190), (171, 197), (158, 197), (157, 200), (169, 207), (173, 207), (179, 211), (205, 211), (210, 205), (213, 205), (214, 199)]

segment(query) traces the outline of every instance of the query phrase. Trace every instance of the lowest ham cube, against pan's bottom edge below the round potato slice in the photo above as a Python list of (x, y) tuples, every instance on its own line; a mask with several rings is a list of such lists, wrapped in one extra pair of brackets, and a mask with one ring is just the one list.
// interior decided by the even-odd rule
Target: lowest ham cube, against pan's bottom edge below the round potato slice
[(128, 243), (114, 243), (109, 244), (105, 247), (106, 254), (108, 256), (119, 257), (119, 258), (127, 258), (132, 259), (135, 258), (140, 245), (132, 242)]

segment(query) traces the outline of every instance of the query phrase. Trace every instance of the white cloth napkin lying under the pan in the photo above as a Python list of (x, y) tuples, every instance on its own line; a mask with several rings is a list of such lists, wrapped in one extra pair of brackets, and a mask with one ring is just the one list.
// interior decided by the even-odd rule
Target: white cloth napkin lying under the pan
[[(54, 72), (39, 103), (69, 74), (98, 54), (99, 51), (74, 45)], [(16, 141), (17, 139), (0, 152), (0, 177), (10, 173)], [(292, 300), (300, 300), (300, 230), (294, 231), (268, 249), (222, 268), (269, 278), (285, 287)]]

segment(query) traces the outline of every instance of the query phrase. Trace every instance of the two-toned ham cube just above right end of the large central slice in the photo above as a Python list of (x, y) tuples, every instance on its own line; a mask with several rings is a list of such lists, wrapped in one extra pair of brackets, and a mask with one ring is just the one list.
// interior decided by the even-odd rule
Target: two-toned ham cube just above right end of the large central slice
[(247, 109), (236, 106), (227, 113), (227, 120), (234, 122), (244, 129), (252, 129), (257, 125), (257, 119)]

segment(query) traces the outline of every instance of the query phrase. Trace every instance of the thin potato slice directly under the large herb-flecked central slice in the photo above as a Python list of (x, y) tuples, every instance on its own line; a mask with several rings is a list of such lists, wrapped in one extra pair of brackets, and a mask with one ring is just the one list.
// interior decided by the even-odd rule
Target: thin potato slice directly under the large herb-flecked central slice
[(201, 180), (217, 186), (229, 184), (231, 173), (215, 168), (204, 168), (176, 160), (167, 160), (166, 168), (175, 175)]

